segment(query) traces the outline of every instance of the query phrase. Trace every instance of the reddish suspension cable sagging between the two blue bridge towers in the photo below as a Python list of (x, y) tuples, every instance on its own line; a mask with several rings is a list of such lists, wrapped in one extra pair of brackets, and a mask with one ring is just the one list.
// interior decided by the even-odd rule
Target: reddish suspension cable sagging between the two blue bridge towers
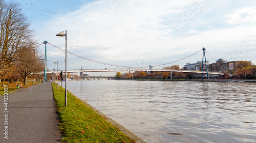
[[(55, 46), (55, 45), (53, 45), (53, 44), (51, 44), (51, 43), (48, 43), (48, 44), (50, 44), (50, 45), (52, 45), (52, 46), (54, 46), (54, 47), (56, 47), (56, 48), (58, 48), (58, 49), (60, 49), (60, 50), (62, 50), (62, 51), (65, 51), (65, 50), (63, 50), (63, 49), (61, 49), (61, 48), (59, 48), (59, 47), (57, 47), (57, 46)], [(202, 50), (202, 49), (201, 49), (201, 50)], [(201, 50), (199, 50), (198, 52), (200, 52)], [(70, 53), (70, 54), (72, 54), (72, 55), (77, 56), (78, 58), (84, 59), (84, 60), (88, 60), (88, 61), (91, 61), (91, 62), (94, 62), (94, 63), (98, 63), (98, 64), (102, 64), (102, 65), (113, 66), (113, 67), (122, 67), (122, 68), (148, 68), (148, 67), (150, 67), (150, 66), (146, 66), (146, 67), (133, 67), (133, 66), (113, 65), (113, 64), (103, 63), (103, 62), (91, 60), (91, 59), (88, 59), (88, 58), (84, 58), (84, 57), (82, 57), (82, 56), (80, 56), (80, 55), (74, 54), (74, 53), (69, 52), (69, 51), (67, 51), (67, 52)], [(188, 56), (186, 56), (185, 58), (182, 58), (182, 59), (177, 60), (177, 61), (173, 61), (173, 62), (161, 64), (161, 65), (155, 65), (155, 66), (151, 66), (151, 67), (158, 67), (158, 66), (163, 66), (163, 65), (167, 65), (167, 64), (172, 64), (172, 63), (175, 63), (175, 62), (179, 62), (179, 61), (184, 60), (184, 59), (186, 59), (186, 58), (188, 58), (188, 57), (190, 57), (190, 56), (192, 56), (192, 55), (194, 55), (194, 54), (197, 54), (198, 52), (195, 52), (195, 53), (193, 53), (193, 54), (191, 54), (191, 55), (188, 55)]]

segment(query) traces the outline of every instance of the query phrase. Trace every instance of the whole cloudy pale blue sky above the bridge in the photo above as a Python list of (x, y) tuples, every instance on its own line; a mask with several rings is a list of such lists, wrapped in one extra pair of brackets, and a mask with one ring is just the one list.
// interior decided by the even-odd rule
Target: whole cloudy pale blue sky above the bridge
[[(256, 64), (256, 1), (166, 0), (16, 0), (31, 21), (38, 43), (65, 49), (99, 62), (122, 66), (160, 65), (180, 60), (205, 47), (213, 63)], [(45, 45), (39, 47), (44, 55)], [(65, 52), (47, 44), (48, 69), (65, 69)], [(119, 68), (68, 54), (68, 69)], [(165, 65), (202, 61), (202, 51)], [(164, 66), (154, 67), (162, 68)], [(89, 75), (115, 73), (89, 73)]]

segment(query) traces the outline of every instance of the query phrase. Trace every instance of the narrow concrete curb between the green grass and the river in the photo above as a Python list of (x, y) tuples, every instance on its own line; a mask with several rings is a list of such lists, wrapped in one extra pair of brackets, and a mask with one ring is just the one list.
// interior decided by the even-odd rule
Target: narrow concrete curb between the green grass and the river
[[(69, 92), (71, 93), (71, 92)], [(79, 97), (77, 97), (76, 95), (74, 95), (73, 93), (71, 93), (71, 95), (73, 95), (74, 97), (76, 97), (77, 99), (79, 99), (81, 102), (83, 102), (84, 104), (86, 104), (88, 107), (90, 107), (92, 110), (94, 110), (95, 112), (97, 112), (100, 116), (102, 116), (106, 121), (109, 121), (111, 124), (113, 124), (114, 126), (116, 126), (118, 129), (120, 129), (123, 133), (125, 133), (127, 136), (129, 136), (130, 138), (134, 139), (137, 143), (146, 143), (146, 141), (144, 141), (142, 138), (140, 138), (139, 136), (137, 136), (136, 134), (134, 134), (133, 132), (131, 132), (130, 130), (126, 129), (125, 127), (123, 127), (122, 125), (120, 125), (119, 123), (117, 123), (116, 121), (114, 121), (113, 119), (109, 118), (108, 116), (104, 115), (102, 112), (98, 111), (96, 108), (94, 108), (93, 106), (91, 106), (90, 104), (88, 104), (87, 102), (84, 102), (82, 99), (80, 99)]]

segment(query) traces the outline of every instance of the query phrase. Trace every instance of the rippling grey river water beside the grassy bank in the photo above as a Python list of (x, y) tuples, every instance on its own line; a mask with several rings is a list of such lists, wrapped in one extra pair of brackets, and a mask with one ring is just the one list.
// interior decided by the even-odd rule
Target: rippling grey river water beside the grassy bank
[(68, 81), (68, 90), (147, 142), (256, 142), (256, 83)]

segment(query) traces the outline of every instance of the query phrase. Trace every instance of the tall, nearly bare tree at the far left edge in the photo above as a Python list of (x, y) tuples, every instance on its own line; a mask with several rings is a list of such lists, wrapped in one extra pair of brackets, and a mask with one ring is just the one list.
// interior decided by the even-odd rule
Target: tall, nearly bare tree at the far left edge
[(30, 23), (20, 5), (0, 0), (0, 73), (4, 80), (10, 67), (20, 61), (20, 56), (29, 50), (26, 45), (32, 38)]

